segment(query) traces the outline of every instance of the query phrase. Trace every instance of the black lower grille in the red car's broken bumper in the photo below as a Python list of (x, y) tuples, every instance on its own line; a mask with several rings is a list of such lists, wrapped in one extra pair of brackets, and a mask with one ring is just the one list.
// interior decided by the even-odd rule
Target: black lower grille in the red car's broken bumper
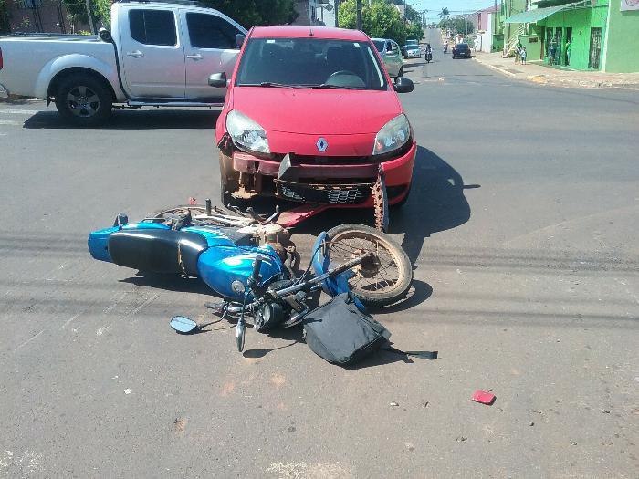
[(371, 196), (372, 183), (307, 184), (278, 181), (278, 196), (297, 202), (358, 204)]

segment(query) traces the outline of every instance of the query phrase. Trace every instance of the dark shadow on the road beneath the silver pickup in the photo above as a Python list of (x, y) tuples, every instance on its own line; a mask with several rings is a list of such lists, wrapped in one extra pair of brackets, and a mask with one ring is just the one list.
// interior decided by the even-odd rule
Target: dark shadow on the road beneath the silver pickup
[[(220, 112), (211, 109), (115, 110), (99, 130), (214, 129)], [(28, 129), (86, 130), (65, 122), (55, 110), (38, 111), (24, 124)]]

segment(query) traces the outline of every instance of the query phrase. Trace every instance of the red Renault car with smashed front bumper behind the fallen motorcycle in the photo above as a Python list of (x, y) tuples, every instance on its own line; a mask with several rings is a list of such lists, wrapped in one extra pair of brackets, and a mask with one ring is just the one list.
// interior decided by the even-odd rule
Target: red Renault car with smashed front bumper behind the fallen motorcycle
[(276, 195), (372, 207), (380, 181), (388, 203), (405, 201), (416, 143), (396, 92), (413, 83), (393, 83), (362, 32), (254, 27), (231, 78), (209, 83), (228, 86), (215, 130), (223, 203)]

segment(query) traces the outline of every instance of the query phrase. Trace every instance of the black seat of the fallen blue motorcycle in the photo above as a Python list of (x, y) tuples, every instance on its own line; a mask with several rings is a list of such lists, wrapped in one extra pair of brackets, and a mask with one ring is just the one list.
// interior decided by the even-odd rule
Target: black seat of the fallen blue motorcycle
[(208, 244), (202, 234), (160, 230), (120, 230), (109, 236), (113, 263), (152, 273), (198, 276), (197, 258)]

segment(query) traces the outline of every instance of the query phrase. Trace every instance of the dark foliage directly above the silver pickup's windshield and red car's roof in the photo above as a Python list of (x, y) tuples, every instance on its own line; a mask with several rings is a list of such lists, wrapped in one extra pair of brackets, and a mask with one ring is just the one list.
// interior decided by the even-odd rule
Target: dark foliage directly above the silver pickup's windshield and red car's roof
[(202, 0), (246, 28), (289, 24), (298, 16), (294, 0)]

